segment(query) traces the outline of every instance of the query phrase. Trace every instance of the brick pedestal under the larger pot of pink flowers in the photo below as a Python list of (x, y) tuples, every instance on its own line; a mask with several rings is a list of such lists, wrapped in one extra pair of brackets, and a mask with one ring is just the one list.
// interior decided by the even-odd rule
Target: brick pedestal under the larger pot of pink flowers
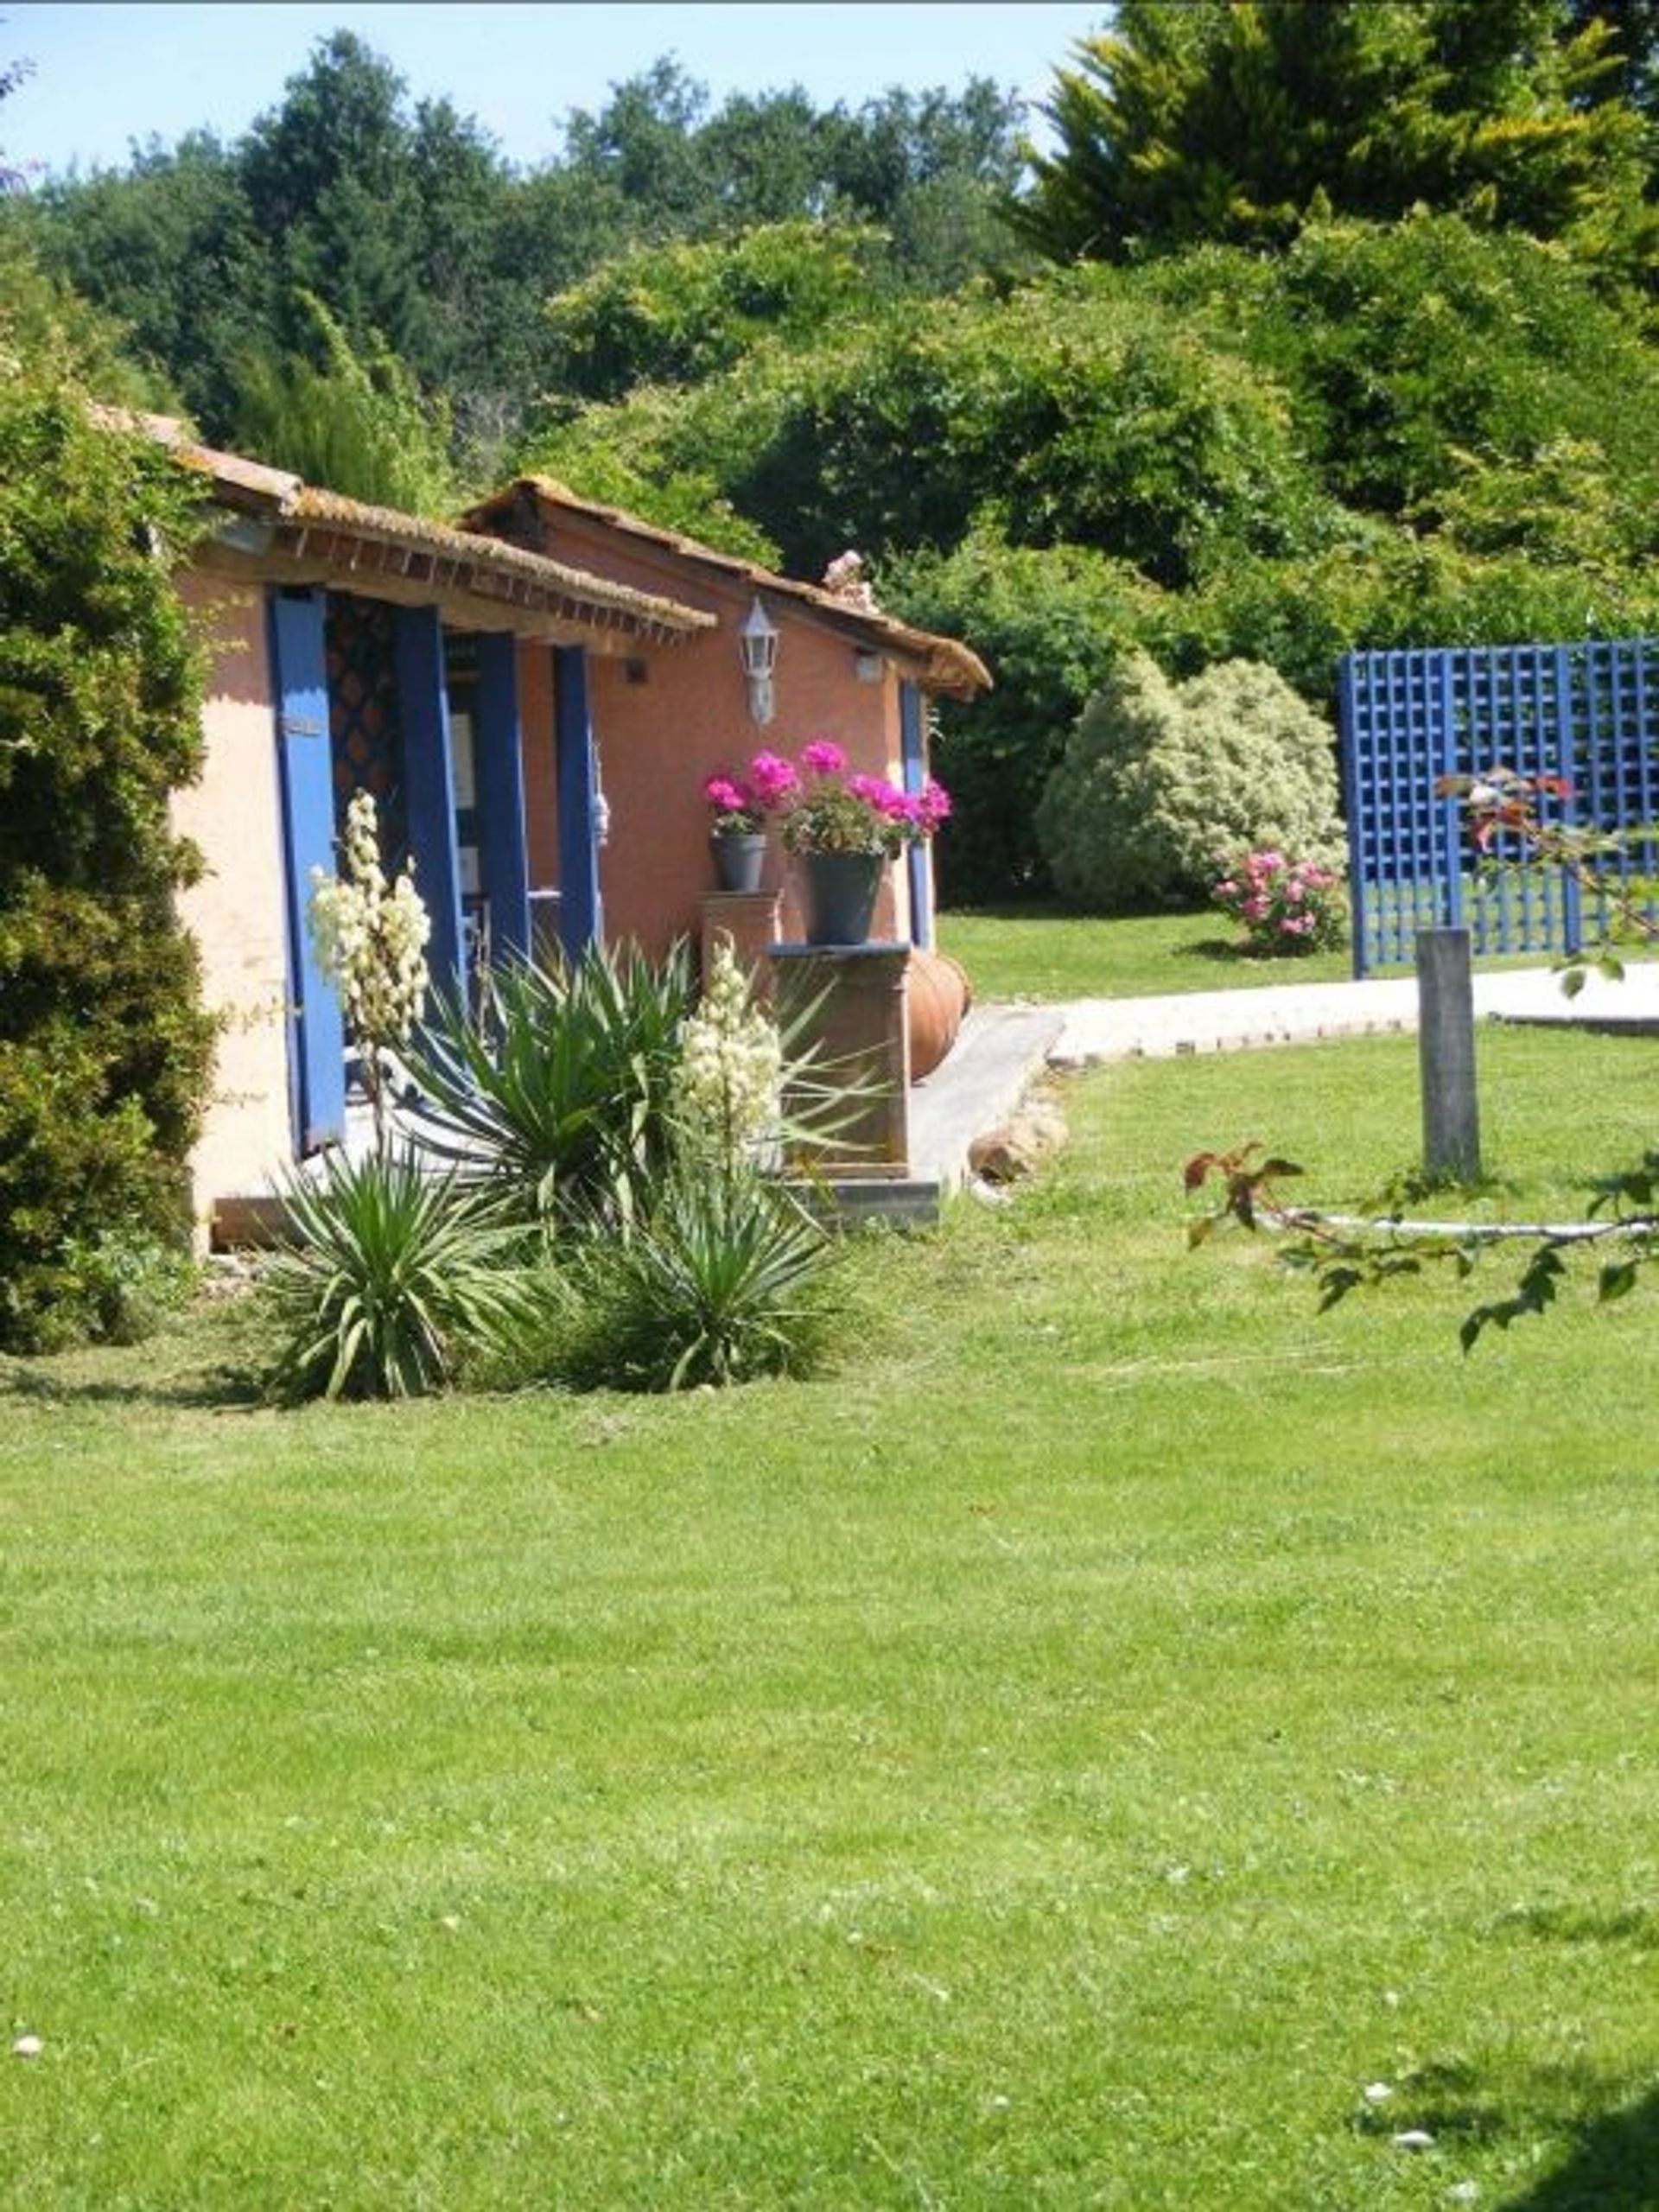
[(832, 1179), (907, 1177), (909, 945), (772, 945), (768, 958), (781, 1020), (805, 1018), (803, 1037), (816, 1044), (814, 1073), (869, 1084), (847, 1126), (803, 1155), (803, 1166)]

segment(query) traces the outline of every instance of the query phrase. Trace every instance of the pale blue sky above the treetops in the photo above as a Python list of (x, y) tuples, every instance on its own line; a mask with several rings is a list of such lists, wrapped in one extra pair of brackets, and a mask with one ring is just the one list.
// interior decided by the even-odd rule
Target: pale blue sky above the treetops
[[(960, 91), (978, 75), (1042, 100), (1077, 38), (1104, 29), (1102, 4), (1029, 0), (863, 0), (863, 4), (62, 4), (0, 0), (0, 64), (33, 75), (0, 108), (13, 164), (62, 173), (119, 166), (153, 135), (195, 126), (237, 137), (281, 100), (314, 42), (356, 31), (409, 80), (411, 97), (449, 95), (518, 164), (557, 148), (571, 108), (597, 108), (611, 84), (675, 53), (726, 93), (803, 84), (821, 104), (858, 106), (889, 84)], [(1035, 117), (1033, 117), (1035, 126)], [(40, 170), (38, 170), (40, 173)]]

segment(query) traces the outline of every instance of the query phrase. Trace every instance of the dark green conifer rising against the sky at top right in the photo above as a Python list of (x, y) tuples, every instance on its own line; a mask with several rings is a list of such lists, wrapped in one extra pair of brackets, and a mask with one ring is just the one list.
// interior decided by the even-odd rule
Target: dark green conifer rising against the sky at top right
[(1555, 0), (1124, 0), (1055, 77), (1018, 223), (1057, 261), (1133, 259), (1427, 206), (1646, 272), (1644, 124), (1593, 97), (1613, 44)]

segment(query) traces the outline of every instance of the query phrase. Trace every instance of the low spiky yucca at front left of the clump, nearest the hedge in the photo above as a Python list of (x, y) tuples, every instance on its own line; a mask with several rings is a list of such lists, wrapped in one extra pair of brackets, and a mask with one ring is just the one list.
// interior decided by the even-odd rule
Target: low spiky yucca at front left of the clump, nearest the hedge
[(325, 1155), (281, 1186), (288, 1241), (263, 1298), (281, 1332), (274, 1398), (414, 1398), (522, 1305), (524, 1230), (491, 1190), (429, 1175), (409, 1152)]

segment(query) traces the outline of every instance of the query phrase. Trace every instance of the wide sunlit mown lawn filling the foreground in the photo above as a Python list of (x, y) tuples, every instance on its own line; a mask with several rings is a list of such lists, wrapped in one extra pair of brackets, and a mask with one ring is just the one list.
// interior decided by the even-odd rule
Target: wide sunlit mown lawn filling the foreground
[[(1482, 1033), (1482, 1206), (1650, 1068)], [(1409, 1166), (1411, 1040), (1064, 1097), (823, 1383), (0, 1365), (0, 2199), (1652, 2203), (1652, 1294), (1183, 1250), (1192, 1150)]]

